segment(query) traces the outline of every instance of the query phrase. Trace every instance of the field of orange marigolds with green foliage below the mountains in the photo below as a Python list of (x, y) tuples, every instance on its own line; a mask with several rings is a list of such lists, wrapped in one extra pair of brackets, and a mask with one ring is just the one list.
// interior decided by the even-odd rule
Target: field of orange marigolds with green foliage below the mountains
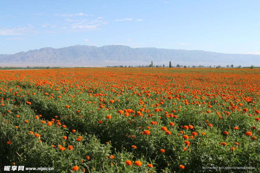
[(258, 69), (0, 71), (0, 164), (259, 172), (259, 79)]

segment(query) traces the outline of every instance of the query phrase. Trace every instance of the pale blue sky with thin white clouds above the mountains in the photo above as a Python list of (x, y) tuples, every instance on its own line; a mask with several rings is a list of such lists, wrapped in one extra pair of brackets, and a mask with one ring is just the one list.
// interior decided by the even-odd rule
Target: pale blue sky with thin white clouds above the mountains
[(1, 1), (0, 54), (126, 45), (260, 54), (260, 1)]

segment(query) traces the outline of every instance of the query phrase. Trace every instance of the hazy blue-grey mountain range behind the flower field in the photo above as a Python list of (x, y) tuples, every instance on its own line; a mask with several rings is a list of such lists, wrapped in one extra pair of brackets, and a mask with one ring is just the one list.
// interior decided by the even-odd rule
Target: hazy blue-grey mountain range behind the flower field
[(19, 52), (16, 54), (1, 54), (0, 65), (49, 65), (49, 66), (111, 66), (111, 65), (241, 65), (260, 66), (260, 55), (253, 54), (225, 54), (200, 50), (176, 50), (131, 48), (122, 45), (108, 45), (102, 47), (76, 45), (54, 49), (45, 47), (39, 50)]

